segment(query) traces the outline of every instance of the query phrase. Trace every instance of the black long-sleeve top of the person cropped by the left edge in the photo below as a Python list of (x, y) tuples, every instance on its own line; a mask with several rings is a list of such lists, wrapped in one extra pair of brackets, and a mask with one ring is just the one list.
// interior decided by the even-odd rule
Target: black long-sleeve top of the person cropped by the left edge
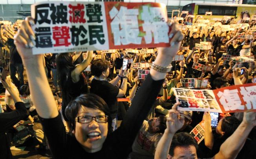
[(23, 102), (16, 102), (15, 107), (16, 110), (9, 113), (0, 113), (0, 159), (12, 158), (10, 145), (7, 141), (5, 132), (20, 120), (29, 116), (29, 112)]

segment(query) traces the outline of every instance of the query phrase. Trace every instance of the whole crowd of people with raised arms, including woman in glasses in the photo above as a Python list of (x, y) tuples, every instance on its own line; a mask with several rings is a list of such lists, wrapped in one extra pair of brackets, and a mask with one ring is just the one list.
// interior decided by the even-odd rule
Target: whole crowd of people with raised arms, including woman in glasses
[[(170, 47), (146, 48), (152, 53), (136, 48), (32, 55), (33, 18), (20, 26), (1, 24), (0, 64), (10, 78), (0, 78), (6, 88), (0, 159), (11, 159), (10, 146), (28, 136), (57, 159), (256, 159), (255, 112), (221, 114), (212, 128), (209, 112), (178, 111), (172, 90), (184, 88), (184, 78), (208, 79), (204, 89), (210, 90), (256, 83), (255, 17), (175, 17), (169, 21)], [(174, 60), (176, 55), (183, 59)], [(126, 69), (117, 69), (120, 59), (128, 59)], [(195, 62), (213, 68), (199, 71)], [(146, 78), (132, 63), (150, 64), (143, 68), (150, 70)], [(43, 130), (33, 130), (34, 121)], [(190, 132), (201, 121), (205, 134), (198, 144)]]

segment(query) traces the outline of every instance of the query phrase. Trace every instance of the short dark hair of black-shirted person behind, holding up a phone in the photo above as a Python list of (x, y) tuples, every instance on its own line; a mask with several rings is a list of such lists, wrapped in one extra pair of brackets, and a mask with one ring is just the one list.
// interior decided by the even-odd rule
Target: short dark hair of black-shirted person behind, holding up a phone
[(103, 71), (110, 68), (110, 63), (107, 60), (97, 59), (91, 64), (91, 74), (99, 77)]

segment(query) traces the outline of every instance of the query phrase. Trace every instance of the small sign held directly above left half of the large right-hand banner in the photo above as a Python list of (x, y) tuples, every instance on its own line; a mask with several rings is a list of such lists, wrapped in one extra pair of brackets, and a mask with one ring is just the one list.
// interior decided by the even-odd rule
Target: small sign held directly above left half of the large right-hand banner
[(187, 79), (180, 79), (182, 84), (182, 88), (200, 88), (205, 89), (207, 88), (208, 79), (194, 79), (194, 78), (187, 78)]

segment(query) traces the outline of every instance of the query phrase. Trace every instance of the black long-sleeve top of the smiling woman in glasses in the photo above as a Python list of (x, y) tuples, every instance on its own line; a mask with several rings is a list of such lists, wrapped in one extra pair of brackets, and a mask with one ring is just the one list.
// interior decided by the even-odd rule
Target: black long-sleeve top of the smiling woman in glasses
[(135, 95), (121, 126), (108, 134), (99, 152), (86, 152), (75, 137), (67, 135), (60, 115), (52, 119), (41, 118), (53, 157), (56, 159), (126, 159), (162, 84), (163, 80), (155, 81), (148, 75)]

